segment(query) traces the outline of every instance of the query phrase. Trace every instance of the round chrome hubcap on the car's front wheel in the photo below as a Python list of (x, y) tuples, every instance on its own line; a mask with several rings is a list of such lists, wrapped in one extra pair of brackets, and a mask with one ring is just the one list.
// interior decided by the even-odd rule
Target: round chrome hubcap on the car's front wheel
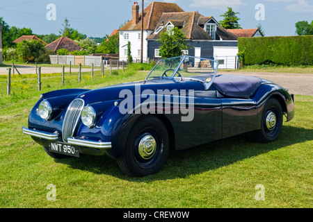
[(149, 160), (157, 150), (157, 142), (152, 135), (145, 135), (138, 144), (138, 153), (145, 160)]

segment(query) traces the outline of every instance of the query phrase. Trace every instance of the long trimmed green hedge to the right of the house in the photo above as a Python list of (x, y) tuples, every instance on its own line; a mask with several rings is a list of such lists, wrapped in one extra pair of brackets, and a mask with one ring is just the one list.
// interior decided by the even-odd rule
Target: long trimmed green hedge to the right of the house
[(242, 65), (313, 65), (313, 35), (239, 37)]

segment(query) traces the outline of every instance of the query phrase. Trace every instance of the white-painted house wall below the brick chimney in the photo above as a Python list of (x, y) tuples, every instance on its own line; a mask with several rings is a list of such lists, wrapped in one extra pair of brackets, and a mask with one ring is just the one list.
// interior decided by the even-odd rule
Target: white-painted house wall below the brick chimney
[[(129, 39), (125, 40), (125, 33), (128, 33)], [(150, 35), (152, 31), (143, 31), (143, 62), (147, 61), (147, 36)], [(138, 38), (138, 34), (141, 31), (120, 31), (120, 61), (127, 60), (127, 43), (131, 42), (131, 56), (133, 61), (140, 60), (141, 55), (138, 54), (138, 50), (141, 49), (141, 39)], [(125, 53), (126, 49), (126, 53)]]

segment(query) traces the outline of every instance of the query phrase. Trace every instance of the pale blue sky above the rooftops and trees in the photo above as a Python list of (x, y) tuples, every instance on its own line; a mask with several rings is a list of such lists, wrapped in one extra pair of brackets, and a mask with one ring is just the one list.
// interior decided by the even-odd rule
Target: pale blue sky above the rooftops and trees
[[(11, 27), (31, 28), (34, 34), (59, 34), (65, 18), (88, 37), (110, 35), (131, 19), (136, 0), (0, 0), (0, 17)], [(137, 0), (141, 11), (141, 0)], [(296, 35), (298, 21), (313, 20), (313, 0), (159, 0), (177, 3), (184, 11), (198, 11), (223, 19), (231, 7), (242, 28), (261, 24), (266, 36)], [(144, 8), (152, 0), (144, 1)]]

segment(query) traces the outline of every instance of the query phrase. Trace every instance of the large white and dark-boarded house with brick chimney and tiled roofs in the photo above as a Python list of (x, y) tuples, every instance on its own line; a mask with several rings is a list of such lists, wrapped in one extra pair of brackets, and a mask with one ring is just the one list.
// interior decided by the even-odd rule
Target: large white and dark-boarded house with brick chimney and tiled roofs
[[(143, 61), (155, 60), (159, 55), (159, 35), (177, 27), (186, 35), (190, 56), (213, 58), (214, 51), (219, 56), (236, 56), (238, 37), (220, 26), (214, 17), (198, 12), (185, 12), (176, 3), (152, 2), (144, 10)], [(132, 19), (120, 28), (120, 60), (127, 60), (127, 42), (131, 42), (133, 59), (140, 58), (141, 13), (138, 4), (132, 6)]]

